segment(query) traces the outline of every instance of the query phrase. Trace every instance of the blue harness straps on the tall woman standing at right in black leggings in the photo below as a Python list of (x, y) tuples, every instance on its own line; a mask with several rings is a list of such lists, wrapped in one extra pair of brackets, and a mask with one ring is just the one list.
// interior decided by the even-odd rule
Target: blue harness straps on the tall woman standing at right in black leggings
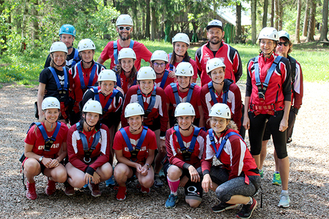
[(267, 71), (267, 75), (266, 75), (265, 81), (263, 83), (260, 82), (258, 56), (255, 58), (255, 61), (254, 61), (255, 62), (255, 80), (256, 80), (256, 86), (258, 87), (258, 97), (260, 99), (265, 100), (265, 93), (266, 93), (267, 87), (269, 87), (269, 79), (271, 78), (272, 74), (274, 73), (274, 70), (276, 69), (276, 65), (278, 65), (278, 62), (280, 62), (281, 58), (282, 58), (282, 56), (280, 56), (280, 55), (278, 55), (275, 58), (271, 67), (269, 68), (269, 71)]

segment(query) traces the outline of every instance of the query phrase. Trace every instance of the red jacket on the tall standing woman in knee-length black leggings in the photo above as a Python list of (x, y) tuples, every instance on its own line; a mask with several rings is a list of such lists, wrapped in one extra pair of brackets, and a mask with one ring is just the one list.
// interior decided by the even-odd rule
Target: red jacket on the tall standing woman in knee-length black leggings
[[(258, 55), (258, 67), (260, 82), (264, 82), (267, 76), (267, 71), (272, 66), (275, 58), (278, 55), (272, 54), (270, 58), (265, 58), (263, 55)], [(269, 109), (253, 110), (254, 106), (269, 106), (275, 104), (275, 110), (283, 110), (285, 107), (284, 101), (291, 101), (292, 99), (292, 80), (290, 76), (290, 63), (287, 58), (281, 58), (280, 62), (276, 65), (276, 69), (269, 79), (269, 85), (265, 93), (265, 101), (260, 101), (258, 98), (258, 87), (256, 86), (255, 79), (255, 58), (249, 60), (247, 64), (247, 87), (246, 96), (250, 96), (250, 109), (258, 111), (260, 114), (267, 114)]]

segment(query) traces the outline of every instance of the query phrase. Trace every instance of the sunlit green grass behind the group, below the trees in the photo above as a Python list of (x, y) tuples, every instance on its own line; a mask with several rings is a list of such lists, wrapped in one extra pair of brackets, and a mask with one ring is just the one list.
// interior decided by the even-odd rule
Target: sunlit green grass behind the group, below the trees
[[(100, 53), (107, 44), (107, 40), (96, 40), (96, 53), (94, 60), (97, 60)], [(172, 53), (172, 44), (167, 42), (152, 42), (149, 40), (139, 41), (153, 53), (156, 50), (164, 50)], [(77, 46), (78, 42), (75, 42)], [(247, 62), (258, 54), (259, 47), (245, 44), (231, 44), (238, 49), (242, 60), (243, 74), (242, 80), (246, 80)], [(188, 49), (188, 54), (194, 59), (195, 51), (198, 47)], [(19, 85), (37, 85), (39, 73), (44, 67), (44, 62), (48, 51), (37, 53), (24, 53), (23, 55), (3, 55), (0, 58), (0, 82), (17, 82)], [(308, 82), (328, 82), (329, 81), (329, 53), (328, 48), (323, 48), (314, 43), (299, 44), (294, 46), (291, 53), (296, 58), (303, 69), (304, 81)], [(141, 66), (149, 66), (148, 62), (142, 60)], [(109, 61), (105, 62), (105, 67), (109, 68)]]

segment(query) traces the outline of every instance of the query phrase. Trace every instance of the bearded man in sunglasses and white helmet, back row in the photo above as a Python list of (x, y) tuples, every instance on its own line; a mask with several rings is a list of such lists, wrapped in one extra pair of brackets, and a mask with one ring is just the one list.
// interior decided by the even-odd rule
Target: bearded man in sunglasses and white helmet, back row
[(97, 60), (98, 63), (104, 64), (104, 62), (110, 58), (110, 69), (112, 69), (116, 64), (119, 64), (118, 52), (127, 47), (133, 49), (136, 53), (135, 67), (137, 71), (141, 68), (141, 59), (145, 60), (145, 62), (150, 61), (152, 53), (144, 44), (130, 39), (132, 26), (132, 17), (130, 17), (130, 15), (120, 15), (118, 19), (116, 19), (116, 31), (118, 32), (119, 39), (111, 41), (105, 46)]

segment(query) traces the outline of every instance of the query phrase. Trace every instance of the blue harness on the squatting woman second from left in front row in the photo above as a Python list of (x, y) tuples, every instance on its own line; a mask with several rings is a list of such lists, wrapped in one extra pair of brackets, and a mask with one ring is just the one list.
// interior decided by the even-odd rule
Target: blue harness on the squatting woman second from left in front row
[(89, 148), (87, 138), (86, 138), (85, 134), (83, 134), (83, 132), (82, 132), (83, 127), (80, 124), (80, 122), (76, 123), (76, 127), (77, 127), (77, 130), (78, 130), (79, 134), (80, 134), (80, 139), (82, 141), (83, 152), (85, 152), (85, 157), (83, 158), (83, 160), (88, 164), (91, 161), (91, 158), (90, 158), (91, 153), (95, 150), (95, 148), (96, 148), (96, 146), (97, 146), (97, 144), (100, 140), (100, 128), (95, 133), (94, 141), (91, 144), (91, 147)]

